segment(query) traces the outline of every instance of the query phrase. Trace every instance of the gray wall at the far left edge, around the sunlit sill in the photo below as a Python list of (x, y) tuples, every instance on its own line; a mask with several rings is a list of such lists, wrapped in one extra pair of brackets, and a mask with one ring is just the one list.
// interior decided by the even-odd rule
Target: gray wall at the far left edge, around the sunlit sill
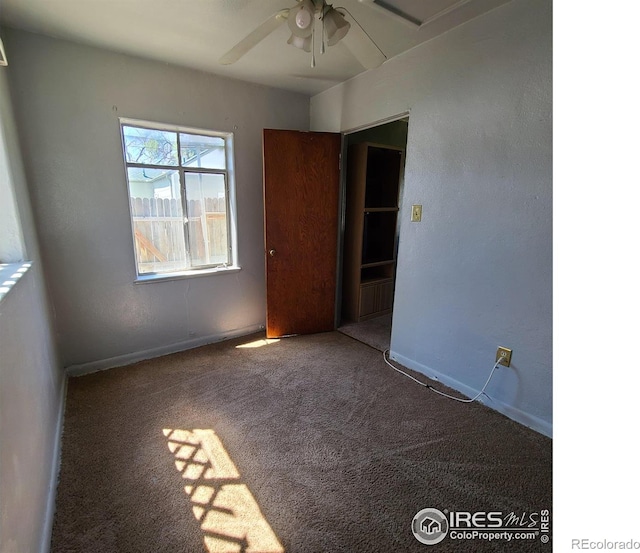
[(11, 201), (13, 230), (5, 235), (0, 229), (0, 241), (18, 244), (13, 258), (3, 261), (31, 260), (32, 266), (0, 294), (0, 551), (35, 553), (49, 546), (66, 379), (9, 101), (12, 68), (0, 67), (0, 204)]

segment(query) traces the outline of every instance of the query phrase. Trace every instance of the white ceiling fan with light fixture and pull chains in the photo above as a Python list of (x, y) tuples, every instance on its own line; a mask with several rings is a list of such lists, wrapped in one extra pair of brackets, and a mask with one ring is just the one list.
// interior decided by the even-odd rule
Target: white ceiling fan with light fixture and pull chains
[[(355, 23), (351, 25), (345, 15)], [(342, 42), (354, 57), (367, 69), (381, 65), (387, 57), (360, 26), (346, 8), (334, 8), (325, 0), (297, 0), (291, 8), (274, 13), (258, 25), (245, 38), (220, 58), (220, 63), (230, 65), (238, 61), (259, 42), (287, 23), (291, 37), (287, 44), (311, 53), (311, 67), (315, 67), (316, 20), (321, 25), (320, 53), (326, 46)]]

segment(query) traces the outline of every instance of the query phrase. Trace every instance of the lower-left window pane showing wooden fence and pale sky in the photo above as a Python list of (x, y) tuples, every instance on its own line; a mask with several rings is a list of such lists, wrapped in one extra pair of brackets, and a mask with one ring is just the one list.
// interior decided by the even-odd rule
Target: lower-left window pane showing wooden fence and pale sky
[(138, 274), (187, 268), (177, 171), (127, 169)]

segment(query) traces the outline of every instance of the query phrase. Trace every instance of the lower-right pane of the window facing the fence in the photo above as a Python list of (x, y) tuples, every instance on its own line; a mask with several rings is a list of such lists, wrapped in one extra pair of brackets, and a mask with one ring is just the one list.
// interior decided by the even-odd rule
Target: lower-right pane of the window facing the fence
[(224, 175), (185, 173), (191, 265), (230, 263)]

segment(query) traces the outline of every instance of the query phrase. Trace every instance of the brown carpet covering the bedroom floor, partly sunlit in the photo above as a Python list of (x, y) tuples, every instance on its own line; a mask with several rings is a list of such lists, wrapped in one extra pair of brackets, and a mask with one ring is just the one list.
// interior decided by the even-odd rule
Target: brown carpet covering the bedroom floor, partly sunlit
[(422, 509), (551, 509), (548, 438), (338, 332), (261, 338), (69, 380), (54, 553), (425, 552)]

